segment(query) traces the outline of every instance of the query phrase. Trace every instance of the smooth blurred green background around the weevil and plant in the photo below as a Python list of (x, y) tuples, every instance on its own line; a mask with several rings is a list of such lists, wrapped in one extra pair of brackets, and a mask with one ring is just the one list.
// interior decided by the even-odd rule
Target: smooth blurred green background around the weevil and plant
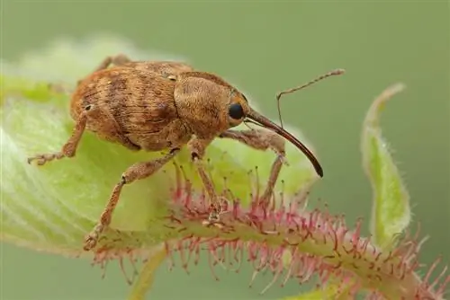
[[(449, 25), (446, 1), (4, 0), (1, 46), (3, 58), (16, 60), (57, 38), (112, 34), (222, 75), (273, 119), (275, 93), (346, 68), (344, 76), (286, 97), (284, 122), (303, 130), (323, 163), (313, 197), (349, 222), (365, 216), (366, 224), (371, 190), (361, 167), (361, 124), (374, 96), (401, 81), (407, 90), (383, 111), (384, 135), (410, 190), (413, 227), (419, 221), (430, 236), (421, 261), (444, 254), (449, 264)], [(89, 261), (11, 245), (2, 245), (1, 264), (2, 300), (123, 299), (129, 290), (116, 264), (101, 280)], [(269, 276), (249, 289), (249, 269), (218, 274), (215, 282), (206, 262), (189, 276), (163, 265), (151, 299), (275, 299), (300, 291), (292, 282), (258, 296)]]

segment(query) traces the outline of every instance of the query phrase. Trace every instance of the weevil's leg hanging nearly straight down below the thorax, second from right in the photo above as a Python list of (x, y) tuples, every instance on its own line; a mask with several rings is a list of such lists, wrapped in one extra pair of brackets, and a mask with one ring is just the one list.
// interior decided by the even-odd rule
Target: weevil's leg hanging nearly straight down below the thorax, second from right
[(200, 178), (202, 179), (202, 183), (204, 186), (204, 189), (206, 190), (206, 194), (208, 195), (208, 198), (210, 199), (211, 204), (211, 214), (208, 217), (208, 221), (210, 223), (215, 223), (219, 221), (220, 216), (220, 201), (217, 197), (217, 194), (214, 190), (214, 185), (212, 184), (211, 178), (208, 175), (208, 173), (205, 170), (205, 167), (203, 165), (203, 155), (205, 152), (205, 149), (207, 146), (211, 144), (211, 139), (201, 139), (198, 137), (193, 137), (191, 140), (187, 143), (187, 148), (189, 149), (189, 152), (191, 153), (191, 157), (193, 159), (193, 163), (195, 164), (195, 167), (197, 169), (197, 172), (200, 175)]

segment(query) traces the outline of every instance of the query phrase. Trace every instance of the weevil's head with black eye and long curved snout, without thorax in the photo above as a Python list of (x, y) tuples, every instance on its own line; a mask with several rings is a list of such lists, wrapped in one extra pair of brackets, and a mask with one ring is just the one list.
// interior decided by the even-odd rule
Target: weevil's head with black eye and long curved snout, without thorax
[(252, 109), (243, 93), (232, 91), (228, 105), (228, 119), (230, 127), (238, 126), (247, 120), (251, 123), (257, 124), (258, 126), (274, 131), (276, 134), (284, 137), (294, 146), (299, 148), (311, 161), (318, 175), (320, 175), (320, 177), (323, 176), (322, 167), (314, 154), (312, 154), (301, 141), (299, 141), (296, 137), (293, 137), (291, 133), (286, 131), (284, 128), (279, 127), (270, 119), (267, 119), (265, 116), (257, 112), (257, 110)]

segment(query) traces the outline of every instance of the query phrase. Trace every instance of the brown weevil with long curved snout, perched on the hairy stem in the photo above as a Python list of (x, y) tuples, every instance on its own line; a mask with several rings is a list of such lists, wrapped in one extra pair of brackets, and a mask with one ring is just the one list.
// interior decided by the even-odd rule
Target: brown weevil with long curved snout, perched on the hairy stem
[[(292, 93), (337, 74), (340, 72), (330, 72), (283, 93)], [(281, 93), (278, 101), (280, 97)], [(257, 150), (271, 149), (275, 152), (275, 162), (260, 200), (262, 205), (270, 201), (284, 163), (284, 138), (302, 150), (316, 172), (323, 175), (314, 154), (284, 128), (253, 110), (243, 93), (218, 75), (195, 71), (184, 63), (133, 62), (123, 55), (106, 57), (91, 75), (78, 81), (71, 96), (70, 115), (75, 127), (61, 150), (37, 154), (30, 157), (28, 163), (36, 161), (38, 165), (43, 165), (63, 157), (74, 157), (86, 129), (133, 151), (166, 151), (160, 158), (135, 163), (121, 174), (98, 223), (85, 236), (85, 251), (95, 247), (105, 228), (110, 225), (123, 186), (157, 172), (174, 158), (182, 146), (189, 150), (210, 200), (208, 224), (219, 222), (220, 200), (205, 171), (202, 157), (216, 137), (230, 138)], [(247, 121), (262, 128), (232, 129)]]

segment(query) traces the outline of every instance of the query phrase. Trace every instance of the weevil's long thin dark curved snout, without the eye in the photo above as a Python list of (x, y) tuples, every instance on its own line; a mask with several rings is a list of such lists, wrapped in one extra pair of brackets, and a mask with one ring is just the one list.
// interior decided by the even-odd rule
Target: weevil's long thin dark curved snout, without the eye
[(251, 119), (252, 121), (255, 121), (255, 123), (263, 128), (269, 128), (272, 129), (275, 133), (280, 135), (281, 137), (284, 137), (289, 142), (291, 142), (294, 146), (302, 150), (302, 153), (308, 157), (308, 159), (311, 161), (312, 166), (316, 170), (316, 172), (319, 174), (320, 177), (323, 177), (323, 169), (320, 166), (319, 161), (317, 158), (312, 154), (310, 149), (308, 149), (306, 146), (302, 144), (301, 141), (299, 141), (297, 138), (293, 137), (292, 134), (284, 130), (284, 128), (279, 127), (274, 122), (272, 122), (270, 119), (267, 119), (263, 115), (259, 114), (257, 111), (250, 109), (247, 113), (247, 118)]

